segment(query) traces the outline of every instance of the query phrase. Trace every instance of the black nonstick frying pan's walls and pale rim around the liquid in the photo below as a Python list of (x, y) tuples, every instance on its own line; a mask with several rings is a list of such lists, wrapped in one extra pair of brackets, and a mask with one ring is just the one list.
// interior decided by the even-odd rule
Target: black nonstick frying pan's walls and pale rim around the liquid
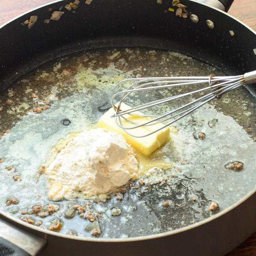
[[(182, 1), (188, 6), (187, 10), (191, 14), (198, 16), (198, 23), (165, 12), (171, 6), (169, 1), (163, 1), (159, 5), (155, 1), (142, 3), (135, 0), (125, 3), (117, 0), (93, 0), (90, 5), (81, 2), (75, 14), (67, 13), (57, 22), (44, 23), (44, 20), (49, 18), (49, 7), (57, 10), (66, 3), (67, 1), (58, 1), (41, 7), (0, 29), (1, 91), (19, 76), (42, 63), (84, 49), (111, 46), (146, 46), (174, 50), (211, 63), (230, 75), (256, 69), (255, 32), (226, 13), (197, 2)], [(229, 4), (224, 2), (226, 9)], [(31, 15), (37, 15), (38, 20), (35, 26), (28, 30), (20, 23)], [(206, 20), (214, 23), (213, 29), (206, 25)], [(235, 37), (230, 35), (230, 30), (234, 31)], [(206, 219), (193, 226), (164, 234), (116, 240), (81, 237), (71, 239), (21, 223), (2, 211), (1, 216), (22, 230), (26, 229), (31, 234), (44, 237), (48, 246), (40, 255), (70, 255), (74, 252), (130, 255), (131, 251), (135, 255), (223, 255), (255, 230), (256, 210), (251, 207), (255, 205), (255, 201), (254, 189), (232, 208), (222, 211), (211, 220)], [(7, 230), (8, 228), (5, 223), (2, 224), (1, 231), (4, 231), (4, 234), (1, 231), (0, 234), (1, 239), (5, 238), (2, 244), (12, 248), (10, 252), (18, 249), (9, 244), (7, 239), (12, 243), (19, 240), (19, 246), (31, 255), (36, 255), (35, 253), (44, 246), (44, 240), (36, 244), (35, 241), (39, 239), (31, 235), (31, 243), (34, 246), (24, 248), (22, 244), (26, 240), (23, 239), (27, 238), (21, 238), (18, 233), (19, 238), (11, 239), (6, 233), (15, 232)], [(24, 252), (17, 255), (22, 253)]]

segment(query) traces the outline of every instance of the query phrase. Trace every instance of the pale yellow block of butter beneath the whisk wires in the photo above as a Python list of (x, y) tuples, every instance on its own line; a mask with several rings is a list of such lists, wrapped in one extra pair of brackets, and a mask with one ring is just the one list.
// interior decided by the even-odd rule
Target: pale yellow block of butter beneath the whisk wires
[[(126, 110), (130, 107), (126, 104), (122, 103), (121, 109)], [(136, 111), (136, 114), (143, 115), (141, 112)], [(126, 141), (131, 144), (132, 147), (142, 152), (144, 155), (149, 156), (152, 152), (154, 152), (157, 148), (160, 148), (163, 143), (167, 141), (170, 135), (169, 127), (165, 127), (154, 134), (148, 135), (146, 137), (137, 138), (127, 134), (122, 128), (120, 128), (115, 122), (115, 118), (111, 117), (111, 115), (115, 114), (115, 110), (113, 108), (109, 109), (102, 117), (100, 117), (98, 121), (98, 126), (100, 128), (106, 128), (107, 130), (111, 130), (113, 132), (117, 132), (122, 134)], [(137, 123), (145, 123), (150, 120), (149, 117), (141, 117), (139, 115), (125, 115), (127, 119), (130, 121), (134, 121)], [(122, 124), (124, 127), (131, 127), (132, 124), (128, 121), (122, 119)], [(161, 123), (150, 125), (150, 126), (141, 126), (134, 128), (132, 130), (128, 130), (131, 134), (135, 135), (145, 135), (154, 130), (157, 130), (164, 125)]]

